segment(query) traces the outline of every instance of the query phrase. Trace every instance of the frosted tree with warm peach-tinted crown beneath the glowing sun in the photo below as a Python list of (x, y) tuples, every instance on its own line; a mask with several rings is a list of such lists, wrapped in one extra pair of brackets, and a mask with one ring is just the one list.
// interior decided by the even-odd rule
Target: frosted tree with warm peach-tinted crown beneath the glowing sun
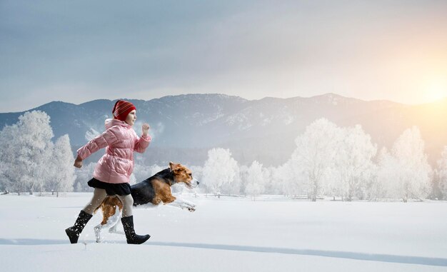
[(403, 131), (392, 148), (396, 158), (398, 176), (393, 181), (391, 192), (402, 198), (426, 198), (430, 188), (431, 167), (424, 153), (424, 142), (416, 126)]

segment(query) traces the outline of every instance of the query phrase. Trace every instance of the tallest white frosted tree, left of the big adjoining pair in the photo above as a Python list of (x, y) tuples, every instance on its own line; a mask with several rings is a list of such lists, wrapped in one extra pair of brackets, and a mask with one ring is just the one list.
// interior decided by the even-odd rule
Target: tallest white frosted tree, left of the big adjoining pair
[(290, 166), (296, 182), (303, 183), (312, 201), (316, 201), (333, 166), (341, 131), (327, 119), (318, 119), (295, 140)]

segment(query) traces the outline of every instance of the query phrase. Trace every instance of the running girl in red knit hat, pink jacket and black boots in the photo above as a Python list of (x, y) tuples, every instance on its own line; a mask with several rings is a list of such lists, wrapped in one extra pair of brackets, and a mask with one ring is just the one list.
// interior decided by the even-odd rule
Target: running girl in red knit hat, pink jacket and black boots
[(132, 129), (136, 120), (136, 107), (129, 101), (116, 101), (112, 114), (114, 119), (106, 120), (106, 131), (79, 148), (74, 161), (74, 166), (81, 168), (85, 158), (106, 147), (106, 153), (96, 164), (93, 178), (88, 182), (89, 186), (94, 188), (93, 198), (81, 210), (74, 226), (65, 230), (71, 243), (78, 242), (79, 234), (90, 220), (94, 209), (101, 205), (107, 195), (116, 195), (123, 203), (121, 222), (127, 243), (140, 244), (151, 237), (149, 234), (137, 235), (134, 231), (134, 216), (132, 216), (134, 199), (129, 185), (134, 170), (134, 151), (143, 153), (151, 142), (151, 136), (148, 134), (149, 125), (143, 124), (141, 138), (136, 136)]

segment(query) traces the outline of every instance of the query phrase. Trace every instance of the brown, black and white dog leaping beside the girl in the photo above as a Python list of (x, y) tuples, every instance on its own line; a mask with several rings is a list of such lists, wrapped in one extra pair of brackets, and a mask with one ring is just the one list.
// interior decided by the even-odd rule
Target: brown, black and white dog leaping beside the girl
[[(158, 206), (160, 203), (169, 204), (187, 211), (196, 211), (196, 204), (176, 198), (171, 193), (171, 186), (176, 183), (184, 183), (186, 187), (193, 188), (199, 185), (199, 181), (193, 178), (191, 170), (180, 163), (169, 162), (166, 168), (154, 176), (131, 186), (131, 195), (134, 198), (134, 206), (144, 208)], [(101, 208), (103, 220), (95, 226), (96, 242), (101, 242), (101, 230), (109, 228), (111, 233), (116, 231), (116, 225), (121, 218), (123, 204), (116, 196), (107, 196), (95, 212)]]

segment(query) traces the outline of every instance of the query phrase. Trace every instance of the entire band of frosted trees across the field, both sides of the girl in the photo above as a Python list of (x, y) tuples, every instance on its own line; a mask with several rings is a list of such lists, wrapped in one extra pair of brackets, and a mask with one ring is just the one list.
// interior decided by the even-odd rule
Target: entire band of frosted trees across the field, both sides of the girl
[[(27, 112), (0, 131), (0, 190), (91, 191), (86, 185), (95, 163), (76, 170), (69, 136), (51, 141), (49, 116)], [(403, 131), (388, 150), (371, 142), (361, 126), (338, 127), (318, 119), (296, 140), (291, 158), (280, 166), (258, 161), (244, 166), (231, 151), (212, 148), (203, 166), (189, 166), (201, 181), (200, 190), (216, 195), (282, 194), (316, 201), (323, 196), (352, 201), (367, 199), (447, 199), (447, 146), (432, 168), (416, 126)], [(141, 160), (141, 161), (140, 161)], [(146, 166), (136, 158), (131, 183), (166, 166)], [(181, 188), (174, 188), (182, 190)]]

